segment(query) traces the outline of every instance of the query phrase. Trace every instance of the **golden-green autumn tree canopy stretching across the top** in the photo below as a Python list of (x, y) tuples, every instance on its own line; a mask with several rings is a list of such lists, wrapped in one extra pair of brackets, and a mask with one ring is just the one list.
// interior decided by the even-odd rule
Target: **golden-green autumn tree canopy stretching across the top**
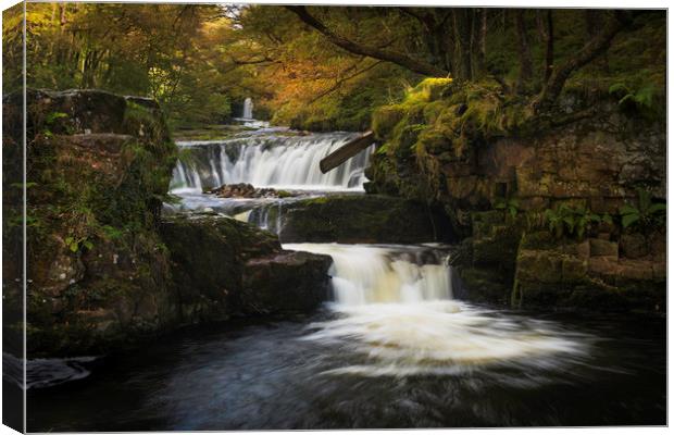
[[(279, 124), (363, 129), (429, 76), (496, 80), (536, 110), (569, 86), (664, 98), (662, 11), (28, 3), (26, 18), (28, 86), (149, 96), (175, 124), (252, 97)], [(20, 25), (4, 21), (5, 40)]]

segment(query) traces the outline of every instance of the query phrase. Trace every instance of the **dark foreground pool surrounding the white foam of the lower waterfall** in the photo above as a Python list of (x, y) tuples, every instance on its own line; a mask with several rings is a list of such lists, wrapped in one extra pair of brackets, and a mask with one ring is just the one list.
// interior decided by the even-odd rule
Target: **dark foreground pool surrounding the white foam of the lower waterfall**
[[(325, 374), (357, 357), (298, 339), (312, 319), (190, 328), (28, 390), (29, 431), (666, 424), (664, 319), (528, 314), (601, 337), (572, 365)], [(500, 382), (508, 380), (508, 382)]]

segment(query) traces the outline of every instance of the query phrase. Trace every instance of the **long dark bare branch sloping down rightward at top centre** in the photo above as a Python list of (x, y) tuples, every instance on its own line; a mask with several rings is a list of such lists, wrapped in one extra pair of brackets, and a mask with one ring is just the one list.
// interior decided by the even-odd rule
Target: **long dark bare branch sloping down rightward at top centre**
[(407, 54), (362, 45), (347, 39), (344, 36), (337, 35), (311, 13), (309, 13), (307, 8), (303, 5), (287, 5), (285, 8), (294, 12), (303, 23), (323, 34), (323, 36), (325, 36), (332, 44), (351, 53), (391, 62), (422, 75), (445, 77), (449, 74), (449, 72), (445, 69), (437, 67), (430, 63), (411, 58)]

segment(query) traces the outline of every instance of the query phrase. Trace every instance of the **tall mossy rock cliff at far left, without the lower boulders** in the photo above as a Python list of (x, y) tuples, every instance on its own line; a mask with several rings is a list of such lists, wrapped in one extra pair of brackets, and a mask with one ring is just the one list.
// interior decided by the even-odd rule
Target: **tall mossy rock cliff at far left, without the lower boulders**
[[(96, 351), (162, 328), (175, 307), (154, 225), (176, 148), (159, 107), (95, 90), (26, 97), (29, 355)], [(22, 152), (22, 95), (3, 109), (3, 141)]]

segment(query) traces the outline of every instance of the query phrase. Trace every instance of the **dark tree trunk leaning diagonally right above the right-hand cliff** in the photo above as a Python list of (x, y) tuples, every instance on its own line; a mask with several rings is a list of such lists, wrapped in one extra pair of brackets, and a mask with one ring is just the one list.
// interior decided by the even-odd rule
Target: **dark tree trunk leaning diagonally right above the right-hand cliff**
[(578, 69), (587, 65), (598, 55), (603, 53), (611, 45), (611, 41), (622, 30), (629, 20), (623, 16), (620, 11), (610, 13), (607, 17), (603, 29), (598, 33), (589, 42), (585, 45), (573, 58), (563, 64), (556, 66), (546, 82), (542, 91), (534, 101), (536, 111), (549, 109), (557, 100), (566, 83), (566, 79)]

